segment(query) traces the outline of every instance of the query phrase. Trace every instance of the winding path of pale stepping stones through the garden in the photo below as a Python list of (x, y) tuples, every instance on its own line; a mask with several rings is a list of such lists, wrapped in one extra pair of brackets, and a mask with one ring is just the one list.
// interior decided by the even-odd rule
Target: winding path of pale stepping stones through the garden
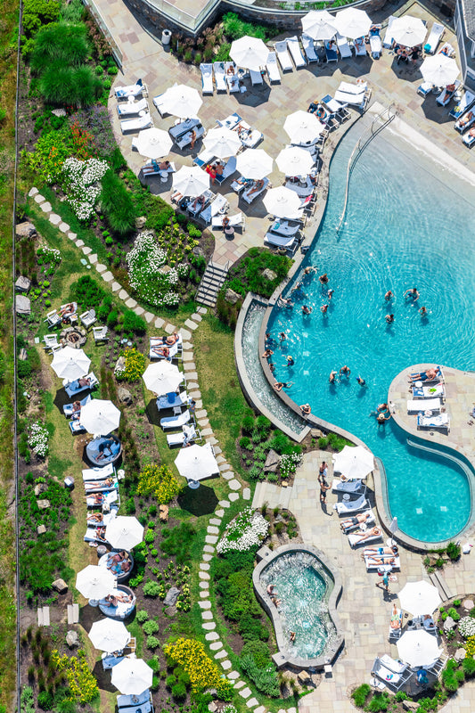
[[(123, 289), (122, 285), (118, 283), (111, 271), (108, 270), (106, 265), (98, 262), (98, 257), (93, 251), (85, 245), (84, 241), (78, 240), (78, 235), (70, 231), (70, 225), (65, 223), (61, 216), (53, 213), (53, 208), (51, 203), (45, 200), (45, 197), (38, 192), (37, 188), (33, 187), (29, 191), (29, 197), (33, 198), (37, 202), (39, 207), (47, 214), (48, 220), (52, 225), (56, 225), (61, 233), (67, 235), (68, 239), (73, 242), (76, 247), (82, 251), (89, 261), (89, 265), (95, 266), (97, 273), (102, 277), (102, 280), (109, 283), (111, 290), (116, 294), (120, 300), (125, 302), (127, 307), (134, 309), (135, 314), (143, 315), (143, 318), (148, 324), (152, 323), (152, 320), (156, 329), (164, 330), (167, 334), (173, 334), (176, 332), (176, 325), (170, 324), (166, 320), (159, 316), (152, 315), (152, 312), (145, 312), (143, 307), (139, 307), (137, 301), (130, 297), (126, 290)], [(84, 260), (86, 263), (86, 260)], [(223, 479), (227, 481), (228, 488), (230, 490), (227, 500), (220, 500), (217, 504), (217, 511), (214, 512), (214, 517), (209, 520), (208, 535), (206, 536), (206, 544), (203, 546), (202, 561), (200, 564), (200, 588), (201, 588), (201, 601), (199, 602), (201, 608), (201, 619), (202, 628), (206, 642), (209, 645), (209, 650), (212, 652), (212, 656), (217, 662), (220, 663), (221, 667), (225, 671), (229, 671), (226, 674), (229, 681), (233, 684), (233, 687), (239, 691), (239, 694), (243, 699), (249, 699), (246, 701), (246, 705), (249, 709), (254, 709), (258, 706), (258, 700), (256, 698), (250, 698), (250, 688), (244, 681), (239, 680), (239, 673), (237, 671), (230, 670), (233, 668), (231, 661), (227, 660), (227, 652), (223, 648), (224, 644), (219, 640), (219, 635), (214, 630), (216, 628), (216, 622), (214, 620), (214, 614), (211, 611), (211, 602), (209, 601), (209, 562), (215, 555), (215, 547), (219, 539), (221, 520), (225, 516), (225, 511), (231, 506), (231, 503), (239, 499), (242, 484), (235, 478), (233, 470), (229, 463), (226, 462), (225, 456), (221, 455), (222, 450), (217, 445), (217, 439), (214, 437), (213, 430), (209, 424), (208, 413), (202, 407), (201, 402), (201, 391), (198, 384), (198, 373), (196, 373), (196, 366), (193, 361), (193, 351), (192, 351), (192, 332), (200, 326), (202, 316), (207, 312), (206, 307), (198, 307), (197, 311), (186, 320), (185, 327), (180, 330), (183, 340), (184, 340), (184, 372), (187, 376), (188, 381), (188, 393), (196, 401), (196, 418), (200, 422), (201, 426), (201, 436), (206, 439), (215, 449), (215, 455), (217, 455), (217, 463), (219, 464), (219, 471), (223, 476)], [(250, 488), (244, 488), (242, 491), (242, 499), (250, 500)], [(215, 653), (216, 652), (216, 653)], [(264, 706), (259, 706), (256, 708), (256, 713), (266, 713)]]

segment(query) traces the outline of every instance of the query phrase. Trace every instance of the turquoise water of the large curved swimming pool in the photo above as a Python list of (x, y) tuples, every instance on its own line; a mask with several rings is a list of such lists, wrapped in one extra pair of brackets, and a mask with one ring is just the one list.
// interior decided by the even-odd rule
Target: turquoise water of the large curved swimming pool
[[(369, 414), (408, 365), (474, 368), (475, 191), (386, 131), (356, 163), (337, 235), (359, 124), (332, 160), (327, 210), (304, 263), (317, 266), (318, 275), (328, 273), (333, 299), (323, 316), (328, 299), (314, 275), (303, 287), (307, 297), (296, 299), (293, 309), (274, 309), (270, 331), (289, 337), (274, 350), (276, 377), (294, 382), (287, 391), (298, 404), (309, 402), (313, 413), (356, 434), (381, 457), (391, 516), (411, 537), (435, 542), (454, 537), (470, 517), (466, 476), (455, 463), (408, 447), (395, 423), (378, 428)], [(414, 286), (421, 293), (416, 306), (403, 298)], [(395, 294), (390, 309), (384, 301), (389, 289)], [(313, 307), (311, 316), (302, 316), (301, 304)], [(418, 313), (422, 305), (427, 319)], [(392, 325), (385, 322), (389, 312)], [(295, 361), (291, 368), (287, 354)], [(330, 385), (330, 372), (342, 365), (350, 367), (350, 378)]]

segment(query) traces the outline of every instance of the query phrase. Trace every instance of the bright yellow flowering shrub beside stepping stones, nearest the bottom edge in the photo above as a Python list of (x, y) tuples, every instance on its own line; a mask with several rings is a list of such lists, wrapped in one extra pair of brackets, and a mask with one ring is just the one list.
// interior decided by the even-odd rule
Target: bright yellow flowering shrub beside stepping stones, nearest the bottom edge
[(218, 695), (231, 691), (231, 683), (221, 674), (221, 670), (205, 652), (204, 645), (194, 639), (178, 639), (163, 647), (165, 655), (180, 666), (190, 676), (192, 692), (200, 693), (205, 688), (216, 688)]

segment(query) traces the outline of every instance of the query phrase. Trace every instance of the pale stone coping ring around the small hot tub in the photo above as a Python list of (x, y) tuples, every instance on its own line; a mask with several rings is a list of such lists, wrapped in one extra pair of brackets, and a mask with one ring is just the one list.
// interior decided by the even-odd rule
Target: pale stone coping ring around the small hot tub
[[(329, 571), (333, 579), (333, 588), (328, 599), (328, 613), (335, 626), (337, 637), (335, 643), (332, 645), (331, 649), (325, 647), (323, 654), (315, 659), (300, 659), (298, 656), (288, 656), (283, 652), (284, 646), (287, 643), (283, 638), (283, 628), (282, 628), (282, 618), (274, 604), (271, 602), (270, 596), (266, 593), (264, 587), (260, 584), (260, 575), (262, 570), (271, 562), (280, 557), (282, 554), (288, 552), (307, 552), (313, 554), (314, 557), (323, 564), (323, 567)], [(305, 545), (304, 543), (300, 545), (283, 545), (276, 550), (270, 550), (268, 547), (261, 547), (256, 555), (258, 564), (254, 568), (252, 573), (252, 584), (254, 586), (254, 591), (258, 596), (259, 602), (262, 604), (263, 608), (266, 610), (269, 618), (272, 620), (275, 632), (275, 639), (277, 641), (277, 648), (279, 651), (272, 657), (277, 668), (283, 668), (283, 666), (291, 666), (293, 668), (316, 668), (323, 669), (324, 666), (332, 664), (334, 660), (338, 657), (341, 649), (345, 645), (344, 636), (340, 631), (340, 618), (337, 614), (337, 604), (340, 600), (340, 595), (343, 587), (341, 586), (340, 572), (332, 567), (332, 564), (327, 560), (323, 552), (313, 545)]]

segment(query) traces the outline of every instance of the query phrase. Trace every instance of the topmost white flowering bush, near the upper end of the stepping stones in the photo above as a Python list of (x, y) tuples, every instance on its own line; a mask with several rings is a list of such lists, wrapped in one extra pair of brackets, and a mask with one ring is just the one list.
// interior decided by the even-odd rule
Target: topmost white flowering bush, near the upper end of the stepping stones
[(95, 201), (101, 193), (101, 178), (108, 170), (106, 161), (71, 157), (62, 164), (64, 190), (70, 207), (79, 220), (88, 220), (94, 211)]

